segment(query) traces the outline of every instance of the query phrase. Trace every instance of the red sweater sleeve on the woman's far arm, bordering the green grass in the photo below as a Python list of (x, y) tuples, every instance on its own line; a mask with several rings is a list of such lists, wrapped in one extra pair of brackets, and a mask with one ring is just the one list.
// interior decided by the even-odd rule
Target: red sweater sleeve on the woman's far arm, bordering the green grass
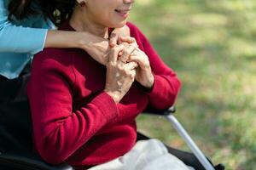
[(181, 87), (176, 73), (162, 61), (142, 31), (131, 23), (128, 26), (131, 30), (131, 36), (136, 38), (139, 48), (148, 55), (154, 75), (153, 89), (147, 93), (150, 105), (155, 109), (166, 109), (174, 105)]

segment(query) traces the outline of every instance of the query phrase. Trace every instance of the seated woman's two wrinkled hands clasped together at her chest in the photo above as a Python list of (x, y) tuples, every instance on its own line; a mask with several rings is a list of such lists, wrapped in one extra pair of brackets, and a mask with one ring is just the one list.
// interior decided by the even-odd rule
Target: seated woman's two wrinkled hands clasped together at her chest
[(119, 37), (117, 42), (110, 43), (105, 92), (119, 103), (135, 80), (146, 88), (152, 88), (154, 76), (148, 56), (138, 48), (133, 37)]

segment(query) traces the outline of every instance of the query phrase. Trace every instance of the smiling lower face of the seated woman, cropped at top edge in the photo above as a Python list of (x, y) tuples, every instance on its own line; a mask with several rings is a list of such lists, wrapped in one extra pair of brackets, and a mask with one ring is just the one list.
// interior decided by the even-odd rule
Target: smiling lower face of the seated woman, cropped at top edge
[(87, 0), (86, 13), (96, 24), (119, 28), (125, 26), (135, 0)]

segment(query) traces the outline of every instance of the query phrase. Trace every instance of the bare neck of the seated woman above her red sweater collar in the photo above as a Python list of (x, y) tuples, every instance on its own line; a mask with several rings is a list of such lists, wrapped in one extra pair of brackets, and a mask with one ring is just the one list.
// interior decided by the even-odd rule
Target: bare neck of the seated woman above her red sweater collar
[(69, 24), (75, 31), (88, 31), (98, 37), (108, 38), (108, 27), (101, 26), (90, 20), (90, 17), (78, 8), (73, 10)]

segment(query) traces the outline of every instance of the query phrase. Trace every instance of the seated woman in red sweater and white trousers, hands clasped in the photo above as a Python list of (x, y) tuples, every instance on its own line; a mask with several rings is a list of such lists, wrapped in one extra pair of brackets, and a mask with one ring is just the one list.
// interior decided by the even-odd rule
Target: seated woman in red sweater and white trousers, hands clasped
[[(61, 8), (61, 1), (56, 2)], [(155, 153), (164, 148), (159, 141), (137, 142), (137, 115), (147, 105), (173, 105), (180, 82), (143, 33), (126, 23), (132, 3), (70, 0), (63, 10), (68, 16), (63, 31), (108, 38), (113, 28), (130, 28), (131, 37), (120, 38), (99, 59), (105, 65), (79, 48), (46, 48), (33, 59), (27, 90), (35, 149), (45, 161), (67, 161), (82, 169), (187, 169), (180, 161), (168, 162), (165, 149)], [(155, 167), (160, 157), (162, 165)], [(147, 167), (150, 162), (154, 166)]]

